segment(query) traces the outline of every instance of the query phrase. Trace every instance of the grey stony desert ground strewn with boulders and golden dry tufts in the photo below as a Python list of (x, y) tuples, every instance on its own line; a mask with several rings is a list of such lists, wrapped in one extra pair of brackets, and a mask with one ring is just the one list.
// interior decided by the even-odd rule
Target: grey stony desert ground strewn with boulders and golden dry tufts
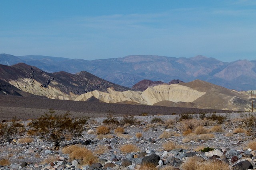
[(250, 114), (90, 118), (80, 137), (56, 149), (20, 121), (23, 131), (0, 144), (0, 170), (256, 169)]

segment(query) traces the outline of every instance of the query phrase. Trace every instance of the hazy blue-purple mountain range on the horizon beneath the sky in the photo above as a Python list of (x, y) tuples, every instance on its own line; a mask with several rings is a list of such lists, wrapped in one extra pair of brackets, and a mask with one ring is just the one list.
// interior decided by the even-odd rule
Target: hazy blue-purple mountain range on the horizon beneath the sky
[(46, 72), (90, 72), (104, 80), (132, 87), (148, 79), (184, 82), (200, 79), (235, 90), (256, 89), (256, 60), (222, 62), (201, 55), (192, 58), (131, 55), (123, 58), (87, 61), (48, 56), (13, 56), (0, 54), (0, 64), (26, 63)]

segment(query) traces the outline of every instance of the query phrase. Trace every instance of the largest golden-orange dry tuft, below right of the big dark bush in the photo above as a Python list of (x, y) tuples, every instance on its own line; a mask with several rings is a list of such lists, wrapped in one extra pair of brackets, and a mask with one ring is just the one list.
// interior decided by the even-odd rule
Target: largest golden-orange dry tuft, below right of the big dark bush
[(92, 165), (98, 162), (98, 158), (92, 153), (92, 151), (85, 147), (72, 145), (70, 147), (63, 148), (62, 152), (65, 154), (69, 154), (69, 157), (72, 160), (75, 160), (75, 159), (82, 160), (83, 164)]

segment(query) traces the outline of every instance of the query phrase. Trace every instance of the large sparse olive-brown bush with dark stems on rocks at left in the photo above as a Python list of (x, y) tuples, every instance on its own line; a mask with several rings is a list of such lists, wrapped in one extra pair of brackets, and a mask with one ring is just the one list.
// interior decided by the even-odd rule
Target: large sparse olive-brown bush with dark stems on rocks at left
[(61, 115), (53, 113), (54, 111), (50, 111), (50, 114), (44, 114), (32, 120), (29, 127), (36, 131), (40, 138), (53, 142), (56, 149), (64, 140), (80, 136), (88, 117), (72, 119), (68, 112)]

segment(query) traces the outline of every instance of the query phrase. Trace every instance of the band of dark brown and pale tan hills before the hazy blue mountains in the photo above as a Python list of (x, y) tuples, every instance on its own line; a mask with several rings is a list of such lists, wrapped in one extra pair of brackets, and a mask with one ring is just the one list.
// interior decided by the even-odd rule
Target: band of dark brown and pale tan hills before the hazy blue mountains
[[(0, 95), (235, 111), (251, 109), (251, 96), (247, 92), (202, 80), (187, 83), (172, 80), (168, 84), (142, 80), (132, 90), (86, 71), (48, 73), (25, 63), (0, 64)], [(253, 97), (256, 106), (256, 96)]]

